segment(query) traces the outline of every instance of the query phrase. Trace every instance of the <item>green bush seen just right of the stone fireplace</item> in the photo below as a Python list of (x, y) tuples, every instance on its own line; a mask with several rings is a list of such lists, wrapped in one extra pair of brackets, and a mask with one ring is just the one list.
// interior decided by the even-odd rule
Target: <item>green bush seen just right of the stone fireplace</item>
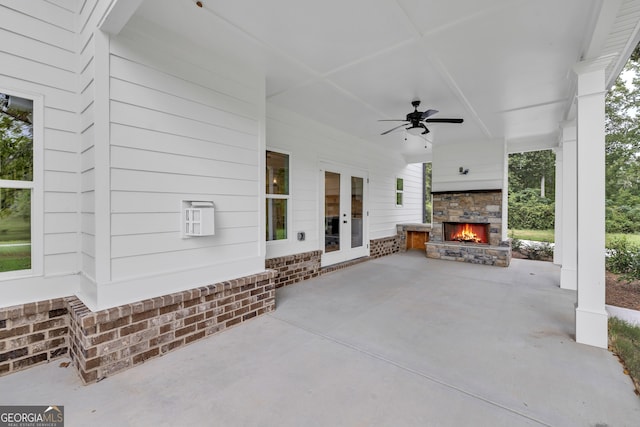
[(509, 193), (509, 228), (553, 229), (554, 220), (553, 199), (540, 197), (539, 190), (526, 188)]

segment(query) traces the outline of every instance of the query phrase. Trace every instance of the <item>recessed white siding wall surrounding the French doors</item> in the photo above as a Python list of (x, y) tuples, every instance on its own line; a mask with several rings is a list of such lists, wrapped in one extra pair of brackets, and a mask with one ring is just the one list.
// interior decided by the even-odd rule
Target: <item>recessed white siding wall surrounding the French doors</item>
[[(396, 234), (396, 224), (422, 222), (422, 164), (407, 165), (399, 150), (384, 150), (267, 104), (267, 149), (290, 155), (290, 238), (269, 242), (267, 258), (323, 249), (321, 162), (352, 167), (368, 173), (369, 235), (365, 241)], [(396, 207), (396, 177), (404, 179), (404, 206)], [(304, 231), (306, 240), (296, 240)]]

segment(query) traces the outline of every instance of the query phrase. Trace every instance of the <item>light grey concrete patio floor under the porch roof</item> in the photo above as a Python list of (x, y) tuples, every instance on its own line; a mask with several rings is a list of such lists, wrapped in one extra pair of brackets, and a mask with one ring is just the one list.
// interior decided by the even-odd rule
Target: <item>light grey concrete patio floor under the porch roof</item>
[(610, 352), (573, 339), (551, 263), (392, 255), (277, 292), (275, 312), (83, 386), (57, 361), (0, 404), (67, 426), (638, 426)]

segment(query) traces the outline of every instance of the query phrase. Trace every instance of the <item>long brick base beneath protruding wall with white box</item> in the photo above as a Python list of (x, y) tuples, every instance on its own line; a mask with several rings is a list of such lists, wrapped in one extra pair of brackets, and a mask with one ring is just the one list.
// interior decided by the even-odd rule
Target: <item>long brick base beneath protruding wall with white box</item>
[(85, 383), (100, 381), (275, 308), (275, 272), (91, 312), (69, 301), (70, 353)]

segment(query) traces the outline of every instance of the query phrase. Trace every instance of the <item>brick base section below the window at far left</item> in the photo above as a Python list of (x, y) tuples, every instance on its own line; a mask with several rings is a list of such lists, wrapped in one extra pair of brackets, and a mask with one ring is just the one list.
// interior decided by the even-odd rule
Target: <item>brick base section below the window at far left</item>
[(67, 313), (63, 298), (0, 308), (0, 375), (66, 355)]

